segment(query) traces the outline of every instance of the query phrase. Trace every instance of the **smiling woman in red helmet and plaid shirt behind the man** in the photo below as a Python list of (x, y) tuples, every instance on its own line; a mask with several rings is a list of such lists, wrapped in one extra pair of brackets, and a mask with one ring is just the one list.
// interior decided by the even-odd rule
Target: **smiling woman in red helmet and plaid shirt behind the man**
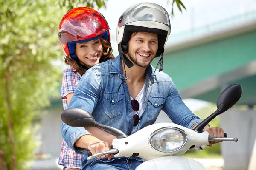
[[(65, 53), (61, 86), (63, 108), (67, 109), (81, 76), (99, 62), (113, 59), (109, 26), (104, 16), (87, 7), (74, 8), (62, 18), (58, 37)], [(80, 170), (83, 155), (75, 153), (62, 142), (59, 165), (64, 170)]]

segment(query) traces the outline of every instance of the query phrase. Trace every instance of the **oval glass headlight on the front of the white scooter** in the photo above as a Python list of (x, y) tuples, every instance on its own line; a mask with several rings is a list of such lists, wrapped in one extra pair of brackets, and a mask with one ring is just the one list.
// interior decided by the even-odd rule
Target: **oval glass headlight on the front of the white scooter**
[(164, 127), (151, 134), (149, 143), (159, 152), (173, 152), (187, 142), (186, 133), (176, 127)]

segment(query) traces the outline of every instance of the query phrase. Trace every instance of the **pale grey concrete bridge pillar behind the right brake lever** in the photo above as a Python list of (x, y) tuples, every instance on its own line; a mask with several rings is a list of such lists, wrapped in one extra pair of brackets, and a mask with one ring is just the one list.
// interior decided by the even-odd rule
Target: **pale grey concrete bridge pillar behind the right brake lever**
[[(256, 111), (238, 111), (230, 109), (220, 115), (221, 127), (228, 137), (237, 137), (238, 142), (222, 142), (221, 153), (224, 158), (224, 170), (256, 170), (256, 160), (250, 160), (255, 156), (256, 139)], [(254, 150), (252, 152), (252, 150)]]

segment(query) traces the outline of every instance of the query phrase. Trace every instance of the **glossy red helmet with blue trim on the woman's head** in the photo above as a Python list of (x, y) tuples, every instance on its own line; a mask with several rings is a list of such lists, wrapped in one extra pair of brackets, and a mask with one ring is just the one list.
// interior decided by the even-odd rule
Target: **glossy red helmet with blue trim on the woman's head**
[(99, 37), (109, 42), (109, 29), (102, 14), (92, 8), (78, 7), (68, 11), (61, 19), (58, 38), (66, 56), (76, 58), (73, 54), (75, 43), (87, 42)]

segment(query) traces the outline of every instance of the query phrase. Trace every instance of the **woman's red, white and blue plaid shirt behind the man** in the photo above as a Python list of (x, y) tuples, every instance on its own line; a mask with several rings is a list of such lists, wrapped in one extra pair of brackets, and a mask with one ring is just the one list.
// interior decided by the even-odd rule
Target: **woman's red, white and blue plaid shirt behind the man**
[[(76, 86), (81, 79), (81, 74), (74, 73), (72, 68), (64, 70), (61, 85), (61, 99), (64, 110), (67, 109), (67, 94), (74, 93)], [(82, 159), (84, 155), (75, 153), (67, 143), (63, 140), (61, 145), (61, 153), (58, 164), (66, 168), (79, 168), (82, 169)]]

